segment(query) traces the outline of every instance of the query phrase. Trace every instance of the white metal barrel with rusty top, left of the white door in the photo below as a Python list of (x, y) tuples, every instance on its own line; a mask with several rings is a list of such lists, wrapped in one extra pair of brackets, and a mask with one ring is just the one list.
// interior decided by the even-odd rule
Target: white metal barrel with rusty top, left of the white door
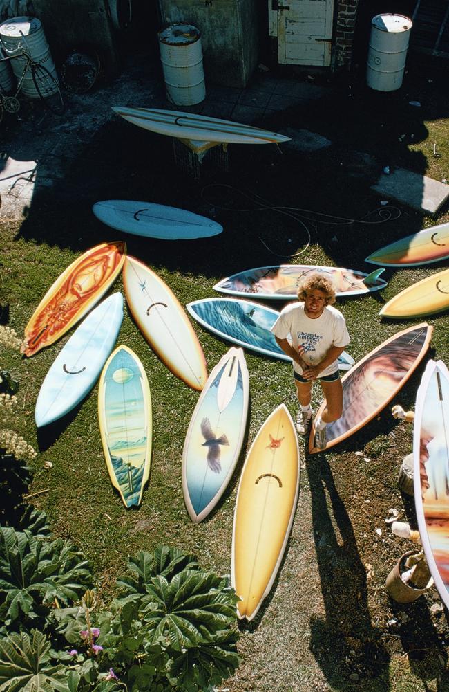
[(159, 34), (166, 96), (178, 106), (206, 98), (200, 31), (191, 24), (172, 24)]

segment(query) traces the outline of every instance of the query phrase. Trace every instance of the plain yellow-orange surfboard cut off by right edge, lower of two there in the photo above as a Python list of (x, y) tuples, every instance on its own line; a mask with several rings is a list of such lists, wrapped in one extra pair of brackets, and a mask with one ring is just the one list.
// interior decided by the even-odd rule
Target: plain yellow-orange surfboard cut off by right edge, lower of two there
[(449, 269), (418, 281), (385, 303), (379, 315), (410, 318), (433, 315), (449, 308)]

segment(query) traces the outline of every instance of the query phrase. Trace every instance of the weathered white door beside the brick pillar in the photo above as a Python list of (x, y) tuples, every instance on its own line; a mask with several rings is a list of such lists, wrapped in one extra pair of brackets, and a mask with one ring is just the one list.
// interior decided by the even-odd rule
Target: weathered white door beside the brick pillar
[(334, 0), (269, 0), (269, 35), (283, 65), (330, 65)]

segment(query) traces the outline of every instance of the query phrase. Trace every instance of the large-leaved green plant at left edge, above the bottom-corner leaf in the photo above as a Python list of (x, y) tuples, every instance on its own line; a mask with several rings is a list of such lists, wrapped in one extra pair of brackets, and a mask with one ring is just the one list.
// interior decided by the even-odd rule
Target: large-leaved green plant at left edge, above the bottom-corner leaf
[(70, 605), (91, 584), (89, 565), (67, 541), (0, 527), (0, 621), (5, 633), (38, 624), (54, 605)]

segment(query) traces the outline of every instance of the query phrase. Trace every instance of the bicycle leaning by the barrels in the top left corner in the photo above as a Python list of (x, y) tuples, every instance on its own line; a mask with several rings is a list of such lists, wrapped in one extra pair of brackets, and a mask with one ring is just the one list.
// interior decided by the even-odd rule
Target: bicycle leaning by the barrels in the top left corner
[(44, 65), (41, 65), (39, 62), (33, 60), (23, 33), (21, 33), (21, 37), (28, 50), (21, 48), (19, 53), (17, 53), (16, 50), (14, 53), (10, 53), (0, 38), (3, 53), (6, 53), (5, 57), (0, 58), (0, 62), (5, 62), (6, 60), (19, 60), (20, 58), (26, 61), (17, 82), (17, 89), (14, 94), (8, 95), (0, 86), (0, 121), (3, 118), (3, 111), (6, 111), (7, 113), (17, 113), (17, 111), (19, 111), (20, 101), (17, 96), (23, 87), (23, 82), (25, 81), (28, 73), (31, 74), (35, 89), (39, 95), (39, 98), (44, 102), (46, 108), (52, 111), (52, 113), (61, 115), (61, 113), (64, 113), (65, 104), (57, 80), (55, 80), (53, 75), (48, 71), (48, 69), (46, 69), (46, 67), (44, 67)]

